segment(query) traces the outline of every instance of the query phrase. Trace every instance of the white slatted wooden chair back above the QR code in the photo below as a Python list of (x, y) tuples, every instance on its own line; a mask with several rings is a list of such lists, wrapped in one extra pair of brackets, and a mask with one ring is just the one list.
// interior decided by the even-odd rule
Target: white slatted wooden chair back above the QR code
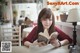
[[(12, 41), (12, 46), (21, 46), (21, 27), (20, 26), (14, 26), (11, 28), (2, 28), (2, 38), (7, 39), (9, 37)], [(5, 40), (6, 41), (6, 40)]]

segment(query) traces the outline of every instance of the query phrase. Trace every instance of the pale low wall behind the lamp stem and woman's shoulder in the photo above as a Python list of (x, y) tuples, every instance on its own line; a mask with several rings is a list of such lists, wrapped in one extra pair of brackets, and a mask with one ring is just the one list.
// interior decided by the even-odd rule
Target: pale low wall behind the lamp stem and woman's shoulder
[[(73, 39), (73, 26), (71, 23), (66, 22), (57, 22), (56, 26), (60, 28), (65, 34), (69, 35), (70, 38)], [(80, 24), (76, 26), (76, 34), (77, 34), (77, 43), (80, 45)]]

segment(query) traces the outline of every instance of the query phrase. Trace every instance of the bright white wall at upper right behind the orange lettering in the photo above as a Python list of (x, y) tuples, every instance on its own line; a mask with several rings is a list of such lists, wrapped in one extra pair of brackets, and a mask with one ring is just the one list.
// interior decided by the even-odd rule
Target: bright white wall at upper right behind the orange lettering
[(60, 2), (79, 2), (79, 5), (56, 5), (59, 6), (59, 10), (54, 10), (55, 7), (54, 5), (48, 5), (49, 8), (51, 8), (53, 10), (53, 13), (54, 13), (54, 16), (55, 16), (55, 21), (56, 22), (60, 22), (61, 20), (57, 20), (56, 19), (56, 16), (58, 16), (60, 18), (60, 14), (63, 14), (63, 13), (67, 13), (69, 12), (70, 9), (72, 8), (78, 8), (80, 9), (80, 0), (48, 0), (50, 2), (57, 2), (57, 1), (60, 1)]

